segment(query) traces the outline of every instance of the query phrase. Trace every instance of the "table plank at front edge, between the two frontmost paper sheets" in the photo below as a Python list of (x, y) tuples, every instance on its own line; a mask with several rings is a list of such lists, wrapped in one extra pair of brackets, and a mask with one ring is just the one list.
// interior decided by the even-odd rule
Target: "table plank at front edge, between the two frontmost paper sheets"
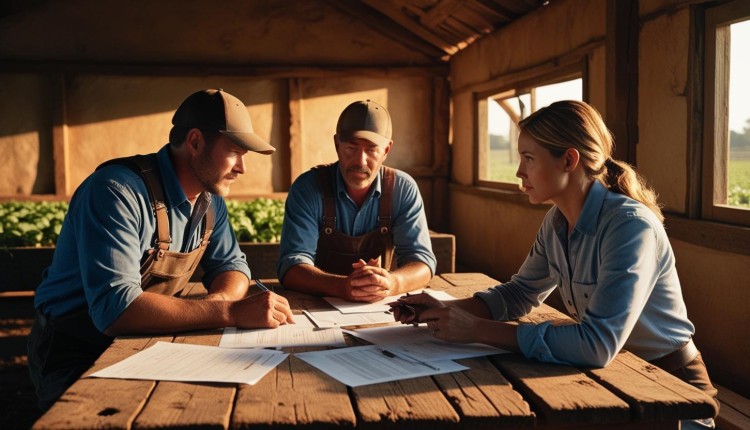
[[(289, 348), (302, 352), (313, 348)], [(232, 428), (354, 428), (344, 384), (290, 355), (256, 385), (240, 385)]]

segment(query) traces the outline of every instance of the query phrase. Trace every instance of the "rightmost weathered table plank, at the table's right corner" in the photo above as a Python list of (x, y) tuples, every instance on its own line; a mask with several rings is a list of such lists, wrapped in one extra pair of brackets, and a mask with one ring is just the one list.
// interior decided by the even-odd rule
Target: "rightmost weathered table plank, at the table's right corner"
[(585, 373), (628, 402), (637, 420), (709, 418), (717, 412), (703, 391), (629, 352)]

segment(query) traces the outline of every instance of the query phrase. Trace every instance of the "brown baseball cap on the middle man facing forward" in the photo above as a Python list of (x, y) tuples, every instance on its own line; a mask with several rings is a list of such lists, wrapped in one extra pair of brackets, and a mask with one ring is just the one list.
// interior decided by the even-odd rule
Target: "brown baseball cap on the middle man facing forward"
[(341, 142), (359, 137), (379, 146), (387, 146), (391, 142), (392, 133), (391, 115), (372, 100), (358, 101), (347, 106), (336, 125), (336, 135)]

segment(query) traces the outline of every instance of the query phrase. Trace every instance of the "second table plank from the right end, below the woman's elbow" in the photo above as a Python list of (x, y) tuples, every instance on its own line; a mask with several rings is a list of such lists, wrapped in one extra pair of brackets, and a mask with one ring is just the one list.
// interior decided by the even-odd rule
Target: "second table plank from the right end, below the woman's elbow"
[(601, 425), (630, 420), (627, 403), (574, 367), (542, 363), (520, 354), (495, 355), (490, 360), (545, 423)]

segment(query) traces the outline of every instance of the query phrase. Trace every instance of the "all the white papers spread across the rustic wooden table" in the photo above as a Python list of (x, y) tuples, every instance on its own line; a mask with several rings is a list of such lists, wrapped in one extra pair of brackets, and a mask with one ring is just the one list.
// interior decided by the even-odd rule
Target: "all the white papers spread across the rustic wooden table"
[[(455, 297), (442, 291), (426, 290), (440, 300)], [(395, 323), (388, 303), (390, 296), (376, 303), (326, 300), (337, 310), (304, 311), (297, 324), (275, 329), (224, 329), (219, 346), (158, 342), (154, 346), (89, 376), (99, 378), (164, 381), (233, 382), (255, 384), (288, 354), (262, 348), (291, 346), (342, 347), (295, 354), (301, 360), (349, 385), (361, 385), (467, 370), (452, 360), (504, 353), (482, 344), (456, 344), (435, 338), (426, 325), (390, 325), (345, 331), (374, 345), (346, 346), (340, 327)]]

